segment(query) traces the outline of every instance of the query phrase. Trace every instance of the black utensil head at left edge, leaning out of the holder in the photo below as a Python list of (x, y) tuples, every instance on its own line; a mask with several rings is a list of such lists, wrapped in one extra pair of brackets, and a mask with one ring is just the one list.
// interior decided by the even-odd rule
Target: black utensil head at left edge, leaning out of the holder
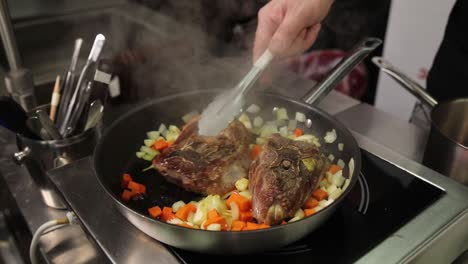
[(0, 125), (14, 133), (38, 139), (39, 136), (27, 125), (28, 116), (23, 108), (10, 96), (0, 96)]

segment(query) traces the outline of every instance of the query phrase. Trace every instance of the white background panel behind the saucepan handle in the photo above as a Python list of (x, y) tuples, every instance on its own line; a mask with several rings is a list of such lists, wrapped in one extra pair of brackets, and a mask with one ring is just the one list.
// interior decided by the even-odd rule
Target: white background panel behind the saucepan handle
[[(467, 0), (463, 0), (467, 1)], [(455, 0), (393, 0), (383, 57), (426, 87), (429, 70)], [(379, 74), (375, 106), (409, 120), (416, 98), (384, 73)]]

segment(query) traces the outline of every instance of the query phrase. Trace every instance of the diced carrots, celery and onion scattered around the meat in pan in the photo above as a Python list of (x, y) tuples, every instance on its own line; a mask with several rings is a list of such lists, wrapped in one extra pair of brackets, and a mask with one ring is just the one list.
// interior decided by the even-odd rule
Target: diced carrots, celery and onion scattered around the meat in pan
[[(320, 140), (313, 134), (305, 132), (311, 125), (310, 119), (304, 113), (296, 112), (294, 119), (289, 120), (286, 108), (275, 107), (273, 114), (275, 120), (265, 121), (260, 116), (250, 117), (248, 114), (257, 114), (260, 107), (251, 105), (244, 113), (241, 113), (238, 120), (244, 124), (252, 133), (256, 134), (256, 144), (250, 146), (250, 157), (256, 159), (262, 152), (263, 145), (268, 137), (274, 133), (279, 133), (283, 137), (293, 140), (301, 140), (315, 144), (320, 147)], [(182, 117), (187, 123), (191, 118), (198, 115), (193, 111)], [(253, 121), (252, 121), (253, 120)], [(165, 148), (174, 143), (180, 134), (180, 129), (174, 125), (167, 127), (161, 124), (157, 131), (147, 133), (147, 139), (144, 145), (136, 153), (138, 158), (151, 161), (161, 153)], [(323, 137), (325, 143), (332, 144), (336, 141), (337, 134), (334, 129), (327, 131)], [(343, 143), (338, 143), (338, 149), (342, 151)], [(334, 162), (335, 156), (328, 156), (330, 161)], [(308, 170), (314, 170), (315, 160), (305, 159), (302, 161)], [(350, 176), (354, 170), (354, 160), (349, 164)], [(349, 186), (350, 179), (343, 176), (345, 163), (338, 159), (336, 164), (330, 166), (325, 177), (319, 183), (317, 189), (312, 192), (311, 197), (304, 203), (302, 208), (297, 210), (295, 215), (283, 221), (282, 224), (294, 222), (314, 215), (330, 205), (339, 198), (343, 191)], [(150, 169), (152, 166), (146, 168)], [(186, 228), (204, 229), (211, 231), (246, 231), (268, 228), (270, 226), (259, 224), (252, 216), (252, 194), (248, 189), (249, 180), (242, 178), (235, 183), (236, 190), (229, 192), (222, 197), (219, 195), (208, 195), (200, 201), (177, 201), (171, 207), (161, 208), (155, 205), (148, 208), (148, 215), (169, 224), (174, 224)], [(146, 187), (133, 181), (129, 174), (123, 174), (121, 186), (123, 188), (122, 200), (128, 202), (141, 195), (145, 195)]]

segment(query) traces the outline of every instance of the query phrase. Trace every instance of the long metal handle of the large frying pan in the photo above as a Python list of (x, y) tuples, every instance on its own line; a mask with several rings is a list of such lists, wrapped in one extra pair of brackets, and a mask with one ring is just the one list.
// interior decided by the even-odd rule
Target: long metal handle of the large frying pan
[(358, 43), (351, 52), (338, 63), (331, 72), (307, 93), (302, 100), (308, 104), (318, 104), (343, 78), (350, 73), (357, 64), (363, 61), (369, 53), (382, 44), (378, 38), (365, 38)]

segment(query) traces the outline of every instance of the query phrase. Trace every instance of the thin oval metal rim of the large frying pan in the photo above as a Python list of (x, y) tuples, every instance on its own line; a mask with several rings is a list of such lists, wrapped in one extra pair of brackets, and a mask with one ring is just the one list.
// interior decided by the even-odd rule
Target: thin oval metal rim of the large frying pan
[[(134, 215), (136, 215), (138, 217), (141, 217), (141, 218), (143, 218), (145, 220), (148, 220), (148, 221), (150, 221), (152, 223), (155, 223), (157, 225), (162, 224), (162, 225), (168, 226), (170, 228), (175, 228), (175, 229), (179, 228), (179, 229), (183, 229), (183, 230), (186, 230), (186, 231), (190, 230), (190, 231), (196, 231), (196, 232), (211, 232), (211, 233), (217, 233), (217, 234), (231, 234), (231, 235), (236, 235), (236, 236), (242, 236), (242, 234), (244, 234), (244, 235), (249, 234), (250, 235), (252, 233), (271, 232), (271, 231), (274, 231), (274, 230), (282, 229), (287, 225), (298, 225), (300, 223), (304, 223), (305, 221), (313, 221), (314, 216), (318, 216), (318, 215), (323, 214), (323, 213), (325, 213), (327, 211), (333, 210), (333, 209), (335, 209), (335, 207), (341, 205), (342, 200), (345, 199), (345, 197), (349, 194), (349, 192), (354, 188), (354, 186), (355, 186), (355, 184), (357, 182), (357, 178), (359, 176), (359, 173), (361, 171), (362, 152), (361, 152), (361, 149), (360, 149), (355, 137), (353, 136), (351, 131), (349, 131), (339, 120), (335, 119), (332, 115), (326, 113), (325, 111), (323, 111), (323, 110), (321, 110), (321, 109), (319, 109), (319, 108), (317, 108), (317, 107), (315, 107), (313, 105), (309, 105), (309, 104), (307, 104), (305, 102), (301, 102), (301, 101), (299, 101), (299, 100), (297, 100), (295, 98), (291, 98), (291, 97), (288, 97), (288, 96), (275, 94), (275, 93), (269, 93), (269, 92), (259, 92), (257, 94), (259, 94), (260, 96), (265, 96), (265, 97), (274, 97), (274, 98), (281, 99), (281, 100), (289, 100), (291, 103), (297, 104), (297, 105), (299, 105), (299, 106), (301, 106), (303, 108), (308, 109), (309, 111), (314, 111), (314, 112), (320, 114), (324, 118), (329, 119), (330, 121), (333, 121), (333, 123), (336, 123), (337, 126), (338, 126), (336, 129), (338, 129), (341, 132), (344, 132), (345, 136), (348, 137), (352, 141), (352, 144), (357, 147), (356, 149), (357, 149), (358, 153), (355, 153), (356, 155), (353, 155), (354, 171), (353, 171), (353, 175), (350, 178), (349, 186), (338, 197), (338, 199), (334, 200), (329, 206), (326, 206), (325, 208), (323, 208), (320, 211), (316, 212), (314, 215), (312, 215), (310, 217), (304, 217), (303, 219), (300, 219), (298, 221), (288, 223), (287, 225), (276, 225), (276, 226), (271, 226), (271, 227), (266, 228), (266, 229), (247, 230), (247, 231), (242, 231), (242, 232), (210, 231), (210, 230), (204, 230), (204, 229), (191, 229), (191, 228), (182, 227), (182, 226), (178, 226), (178, 225), (174, 225), (174, 224), (170, 224), (170, 223), (165, 223), (163, 221), (151, 218), (148, 215), (139, 213), (138, 211), (134, 210), (130, 206), (128, 206), (125, 203), (123, 203), (122, 201), (120, 201), (120, 199), (118, 199), (116, 197), (114, 192), (112, 192), (112, 190), (110, 190), (103, 183), (103, 181), (101, 179), (102, 178), (101, 173), (99, 173), (98, 170), (96, 169), (97, 168), (96, 164), (98, 163), (98, 156), (99, 156), (99, 155), (96, 155), (96, 154), (99, 154), (99, 152), (100, 152), (101, 145), (102, 145), (102, 138), (106, 138), (106, 136), (109, 133), (113, 132), (115, 126), (119, 125), (122, 121), (126, 120), (126, 118), (133, 115), (135, 112), (138, 112), (139, 110), (141, 110), (141, 109), (143, 109), (145, 107), (148, 107), (150, 105), (156, 104), (156, 103), (169, 101), (169, 100), (181, 97), (181, 96), (190, 96), (190, 95), (194, 95), (194, 94), (203, 94), (203, 93), (213, 94), (213, 93), (218, 93), (218, 92), (221, 92), (221, 91), (222, 90), (220, 90), (220, 89), (203, 89), (203, 90), (180, 92), (180, 93), (175, 93), (175, 94), (163, 96), (163, 97), (160, 97), (160, 98), (155, 98), (155, 99), (149, 100), (147, 102), (144, 102), (141, 105), (133, 107), (130, 111), (126, 112), (125, 114), (121, 115), (119, 118), (114, 120), (112, 122), (112, 124), (105, 129), (105, 131), (102, 133), (102, 137), (100, 138), (100, 140), (98, 141), (98, 143), (97, 143), (97, 145), (96, 145), (96, 147), (94, 149), (94, 152), (93, 152), (93, 166), (92, 167), (93, 167), (94, 173), (95, 173), (95, 175), (96, 175), (96, 177), (98, 179), (99, 185), (101, 185), (101, 187), (105, 190), (107, 195), (110, 196), (114, 200), (114, 202), (117, 203), (116, 205), (120, 205), (121, 207), (123, 206), (123, 208), (128, 210), (130, 213), (132, 213), (132, 214), (134, 214)], [(144, 231), (142, 231), (142, 232), (146, 233)], [(153, 239), (156, 239), (156, 238), (153, 237)]]

